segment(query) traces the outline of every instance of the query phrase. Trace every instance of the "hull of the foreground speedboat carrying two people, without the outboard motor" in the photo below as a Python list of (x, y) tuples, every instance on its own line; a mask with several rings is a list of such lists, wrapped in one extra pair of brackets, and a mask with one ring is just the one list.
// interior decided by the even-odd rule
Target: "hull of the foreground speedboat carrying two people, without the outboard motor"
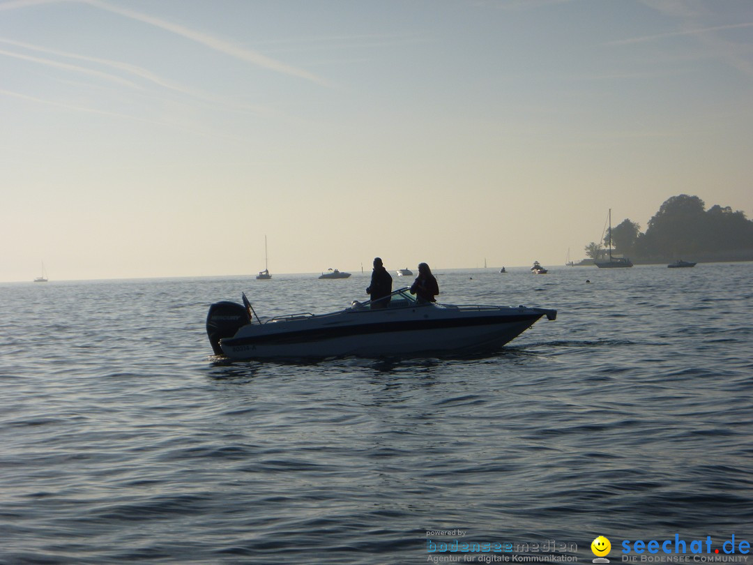
[[(495, 350), (553, 310), (463, 311), (434, 305), (349, 311), (289, 322), (248, 324), (220, 347), (232, 359), (426, 356)], [(270, 327), (271, 326), (271, 327)]]

